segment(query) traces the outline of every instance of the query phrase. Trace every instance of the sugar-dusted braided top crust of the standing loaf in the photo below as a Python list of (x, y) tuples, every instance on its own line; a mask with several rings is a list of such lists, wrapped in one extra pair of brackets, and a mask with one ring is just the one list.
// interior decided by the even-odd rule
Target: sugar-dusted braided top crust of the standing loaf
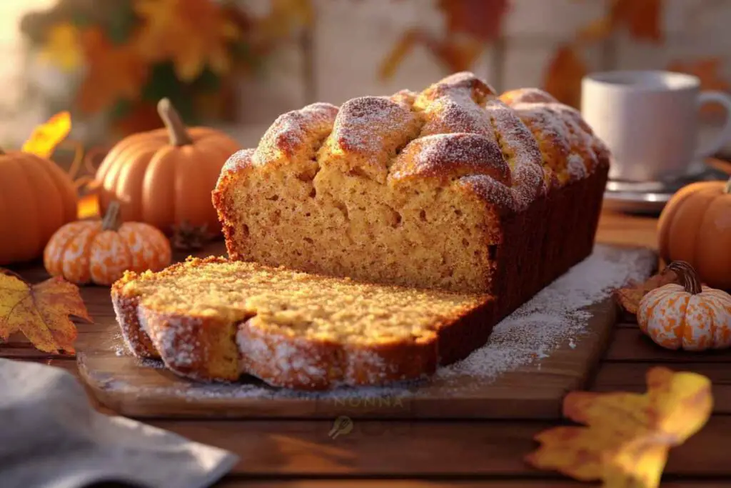
[[(315, 103), (284, 113), (254, 151), (221, 172), (289, 165), (300, 178), (337, 168), (381, 184), (438, 179), (501, 210), (520, 211), (552, 188), (608, 164), (608, 151), (574, 108), (539, 89), (498, 97), (470, 72), (420, 93)], [(219, 180), (221, 181), (221, 180)]]

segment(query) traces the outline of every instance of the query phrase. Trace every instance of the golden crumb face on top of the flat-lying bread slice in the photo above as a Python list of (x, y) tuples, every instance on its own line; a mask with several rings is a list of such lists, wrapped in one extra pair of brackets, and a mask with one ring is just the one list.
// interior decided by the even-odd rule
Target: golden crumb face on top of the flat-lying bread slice
[(292, 337), (365, 344), (429, 334), (488, 299), (218, 258), (189, 258), (159, 273), (128, 273), (117, 286), (124, 296), (139, 296), (142, 307), (170, 315), (253, 319)]

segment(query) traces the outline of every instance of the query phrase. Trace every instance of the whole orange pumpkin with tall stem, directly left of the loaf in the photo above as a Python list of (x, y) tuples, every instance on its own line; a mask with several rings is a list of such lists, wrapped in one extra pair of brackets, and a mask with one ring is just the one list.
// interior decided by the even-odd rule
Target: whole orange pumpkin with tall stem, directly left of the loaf
[(160, 100), (158, 112), (165, 128), (124, 138), (99, 165), (100, 210), (119, 201), (126, 222), (146, 222), (164, 233), (186, 222), (219, 233), (211, 192), (240, 146), (215, 129), (186, 129), (167, 99)]

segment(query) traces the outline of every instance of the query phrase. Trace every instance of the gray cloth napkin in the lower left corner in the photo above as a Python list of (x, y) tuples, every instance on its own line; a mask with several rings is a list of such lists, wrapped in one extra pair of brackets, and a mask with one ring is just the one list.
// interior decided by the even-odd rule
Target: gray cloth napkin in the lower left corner
[(0, 359), (0, 487), (209, 487), (238, 457), (99, 413), (69, 372)]

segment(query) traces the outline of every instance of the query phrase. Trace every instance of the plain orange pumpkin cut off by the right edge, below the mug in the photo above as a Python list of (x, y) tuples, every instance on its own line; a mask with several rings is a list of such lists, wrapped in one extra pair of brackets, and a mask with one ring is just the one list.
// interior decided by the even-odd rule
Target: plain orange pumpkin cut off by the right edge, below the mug
[(673, 195), (658, 222), (659, 253), (683, 260), (713, 288), (731, 289), (731, 179), (701, 181)]

